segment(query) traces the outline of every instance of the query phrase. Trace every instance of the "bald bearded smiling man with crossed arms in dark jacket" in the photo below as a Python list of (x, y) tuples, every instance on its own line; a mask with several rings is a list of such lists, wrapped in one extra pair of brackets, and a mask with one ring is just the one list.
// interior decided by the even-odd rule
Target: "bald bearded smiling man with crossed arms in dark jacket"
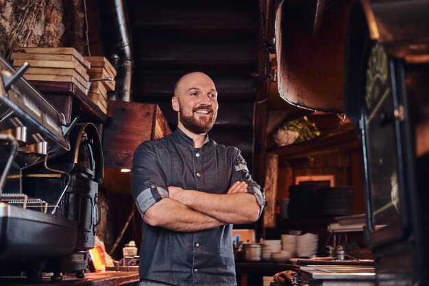
[(177, 130), (134, 152), (132, 193), (144, 221), (140, 286), (236, 285), (232, 224), (258, 219), (260, 187), (240, 150), (208, 138), (219, 107), (208, 75), (180, 78), (171, 105)]

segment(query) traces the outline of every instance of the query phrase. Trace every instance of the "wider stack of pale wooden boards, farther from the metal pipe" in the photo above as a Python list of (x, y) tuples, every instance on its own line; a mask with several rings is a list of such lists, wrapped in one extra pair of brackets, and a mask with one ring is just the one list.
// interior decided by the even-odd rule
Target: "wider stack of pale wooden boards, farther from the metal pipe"
[(27, 80), (73, 82), (83, 93), (88, 92), (90, 62), (71, 47), (18, 47), (11, 58), (16, 69), (28, 62)]

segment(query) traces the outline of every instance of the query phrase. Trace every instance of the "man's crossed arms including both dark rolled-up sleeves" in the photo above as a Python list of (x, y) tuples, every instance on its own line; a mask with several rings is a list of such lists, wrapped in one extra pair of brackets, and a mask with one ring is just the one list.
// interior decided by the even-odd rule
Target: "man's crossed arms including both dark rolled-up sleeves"
[[(238, 169), (233, 171), (231, 180), (234, 184), (227, 193), (184, 190), (165, 185), (167, 174), (158, 165), (160, 157), (156, 150), (159, 151), (151, 143), (145, 142), (136, 150), (133, 158), (132, 191), (147, 224), (193, 232), (258, 219), (263, 207), (262, 193), (247, 173), (247, 168), (232, 166), (232, 169)], [(234, 156), (237, 160), (243, 160), (239, 151)]]

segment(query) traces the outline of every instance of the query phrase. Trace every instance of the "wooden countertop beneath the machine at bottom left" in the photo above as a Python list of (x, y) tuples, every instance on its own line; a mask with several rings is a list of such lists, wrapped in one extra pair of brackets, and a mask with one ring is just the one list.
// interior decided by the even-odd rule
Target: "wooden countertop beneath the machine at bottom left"
[(138, 285), (140, 279), (138, 272), (86, 272), (82, 279), (76, 278), (75, 274), (64, 274), (62, 281), (51, 281), (50, 276), (43, 276), (42, 282), (38, 284), (27, 283), (25, 277), (0, 277), (0, 285), (3, 286), (119, 286)]

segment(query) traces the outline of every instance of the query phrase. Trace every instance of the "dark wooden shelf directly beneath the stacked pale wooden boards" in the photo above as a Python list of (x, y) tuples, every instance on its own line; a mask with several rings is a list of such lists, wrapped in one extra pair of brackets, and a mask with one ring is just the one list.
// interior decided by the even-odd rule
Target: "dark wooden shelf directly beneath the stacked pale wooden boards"
[[(106, 123), (108, 120), (108, 116), (104, 114), (83, 91), (77, 88), (73, 82), (45, 82), (32, 80), (31, 83), (40, 93), (45, 95), (56, 108), (59, 103), (55, 97), (69, 96), (74, 99), (73, 108), (79, 108), (79, 110), (73, 110), (74, 114), (79, 113), (79, 115), (84, 115), (85, 119), (90, 119), (89, 121), (94, 123)], [(63, 100), (64, 99), (58, 99), (59, 102)], [(59, 111), (64, 112), (62, 110)], [(66, 120), (69, 122), (70, 118), (67, 118), (67, 115), (65, 116)]]

